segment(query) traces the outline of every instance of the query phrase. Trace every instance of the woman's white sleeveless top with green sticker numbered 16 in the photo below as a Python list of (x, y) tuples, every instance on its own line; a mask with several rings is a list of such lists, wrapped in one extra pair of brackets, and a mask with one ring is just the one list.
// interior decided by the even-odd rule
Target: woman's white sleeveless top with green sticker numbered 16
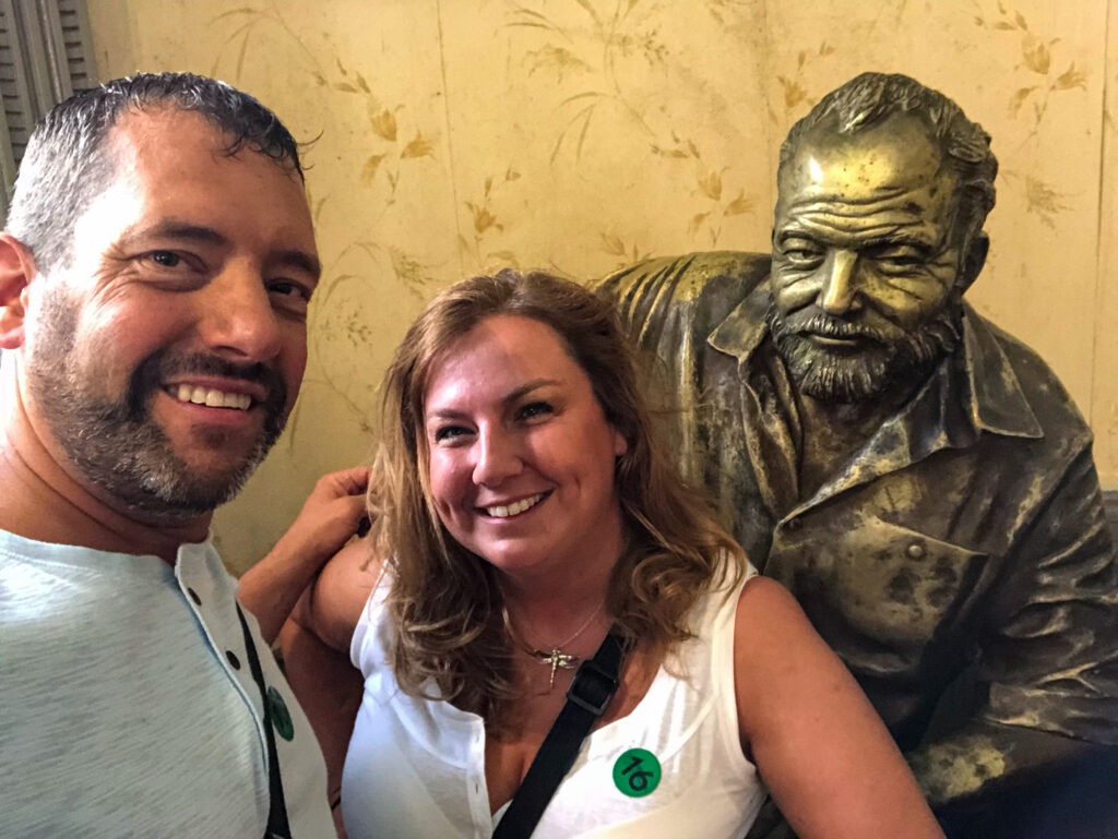
[[(749, 566), (746, 579), (756, 573)], [(364, 696), (342, 776), (349, 837), (489, 839), (505, 808), (490, 814), (484, 724), (449, 703), (399, 689), (388, 664), (387, 589), (381, 584), (370, 597), (351, 649)], [(700, 599), (691, 618), (698, 637), (670, 665), (676, 675), (662, 667), (628, 716), (584, 741), (533, 839), (745, 835), (766, 791), (738, 734), (739, 594), (740, 585)]]

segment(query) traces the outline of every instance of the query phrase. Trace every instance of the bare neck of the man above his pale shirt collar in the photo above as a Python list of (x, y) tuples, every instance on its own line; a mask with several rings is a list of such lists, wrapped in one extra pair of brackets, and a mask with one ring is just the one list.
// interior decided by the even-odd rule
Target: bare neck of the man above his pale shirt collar
[(180, 545), (206, 540), (210, 514), (158, 521), (122, 509), (75, 477), (13, 408), (0, 429), (0, 528), (39, 542), (154, 555), (172, 565)]

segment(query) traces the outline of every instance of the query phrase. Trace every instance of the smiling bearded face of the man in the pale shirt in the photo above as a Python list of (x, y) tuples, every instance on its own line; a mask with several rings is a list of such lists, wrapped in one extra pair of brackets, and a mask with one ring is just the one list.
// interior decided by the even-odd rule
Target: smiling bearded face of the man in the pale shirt
[(297, 175), (227, 156), (197, 114), (132, 113), (69, 265), (28, 286), (29, 416), (68, 471), (133, 514), (180, 518), (239, 488), (306, 363), (319, 263)]

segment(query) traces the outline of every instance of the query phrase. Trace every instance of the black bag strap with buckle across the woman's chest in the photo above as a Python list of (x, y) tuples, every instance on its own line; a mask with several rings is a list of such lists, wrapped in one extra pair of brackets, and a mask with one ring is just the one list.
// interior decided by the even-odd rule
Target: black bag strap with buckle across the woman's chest
[(594, 721), (605, 713), (617, 692), (622, 651), (620, 633), (612, 629), (594, 658), (578, 666), (575, 680), (567, 688), (567, 704), (551, 724), (512, 803), (498, 822), (493, 839), (528, 839), (536, 830)]

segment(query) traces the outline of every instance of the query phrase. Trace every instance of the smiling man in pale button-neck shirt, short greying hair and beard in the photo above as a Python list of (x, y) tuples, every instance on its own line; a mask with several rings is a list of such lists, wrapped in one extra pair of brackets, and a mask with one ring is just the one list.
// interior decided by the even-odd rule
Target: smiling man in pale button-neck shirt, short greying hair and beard
[(333, 836), (207, 541), (299, 392), (319, 274), (253, 97), (144, 75), (36, 128), (0, 236), (0, 835)]

